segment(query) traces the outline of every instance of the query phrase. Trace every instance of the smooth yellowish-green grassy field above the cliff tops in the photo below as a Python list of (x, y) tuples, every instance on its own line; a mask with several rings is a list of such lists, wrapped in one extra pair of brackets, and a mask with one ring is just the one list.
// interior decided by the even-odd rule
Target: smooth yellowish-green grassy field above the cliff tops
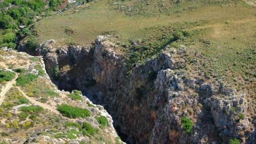
[[(139, 7), (141, 4), (138, 5), (136, 2), (125, 1), (118, 3), (120, 5), (123, 4), (123, 7), (133, 4), (134, 9), (138, 9), (137, 11), (145, 11), (144, 9), (148, 5)], [(127, 5), (124, 6), (124, 3), (127, 3)], [(255, 10), (248, 8), (242, 2), (237, 4), (232, 2), (230, 4), (197, 4), (196, 2), (192, 4), (187, 2), (169, 4), (166, 6), (167, 10), (159, 12), (159, 14), (156, 13), (156, 11), (159, 11), (158, 7), (149, 7), (147, 8), (149, 12), (144, 15), (140, 13), (133, 14), (133, 11), (128, 13), (125, 10), (115, 10), (117, 7), (117, 4), (114, 4), (113, 1), (102, 0), (90, 3), (88, 8), (70, 9), (62, 14), (43, 19), (36, 25), (39, 39), (40, 41), (56, 39), (60, 43), (90, 44), (100, 34), (118, 33), (123, 40), (142, 39), (162, 34), (161, 32), (152, 33), (152, 27), (171, 26), (185, 27), (186, 29), (188, 27), (203, 26), (206, 23), (255, 20)], [(67, 29), (73, 31), (73, 33), (67, 33)]]

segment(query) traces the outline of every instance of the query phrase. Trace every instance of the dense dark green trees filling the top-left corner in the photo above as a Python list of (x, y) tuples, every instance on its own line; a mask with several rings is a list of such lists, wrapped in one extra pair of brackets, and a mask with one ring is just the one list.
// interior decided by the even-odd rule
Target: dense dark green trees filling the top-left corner
[[(16, 35), (30, 36), (31, 24), (34, 23), (36, 16), (51, 15), (51, 11), (59, 10), (63, 0), (5, 0), (0, 2), (0, 29), (5, 29), (0, 35), (0, 46), (10, 48), (16, 47)], [(49, 5), (49, 8), (45, 8)], [(12, 7), (10, 7), (12, 6)], [(39, 45), (35, 37), (31, 37), (27, 41), (27, 47), (30, 51), (34, 51)]]

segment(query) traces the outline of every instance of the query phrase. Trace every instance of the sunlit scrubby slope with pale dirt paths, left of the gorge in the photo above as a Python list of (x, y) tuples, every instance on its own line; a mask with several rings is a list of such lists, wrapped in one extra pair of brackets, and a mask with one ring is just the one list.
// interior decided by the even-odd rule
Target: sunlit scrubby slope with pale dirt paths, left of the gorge
[[(0, 79), (0, 142), (123, 143), (107, 111), (79, 91), (59, 91), (39, 58), (11, 50), (0, 53), (0, 71), (7, 71)], [(3, 81), (7, 77), (11, 80)]]

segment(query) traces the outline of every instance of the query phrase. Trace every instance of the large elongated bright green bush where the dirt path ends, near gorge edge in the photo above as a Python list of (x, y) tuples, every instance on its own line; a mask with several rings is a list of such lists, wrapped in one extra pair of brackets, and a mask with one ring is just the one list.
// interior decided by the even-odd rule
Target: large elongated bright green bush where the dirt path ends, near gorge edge
[(69, 118), (78, 118), (78, 117), (88, 117), (90, 116), (90, 111), (88, 109), (82, 109), (80, 107), (73, 107), (70, 105), (58, 105), (57, 110), (60, 111), (60, 113)]

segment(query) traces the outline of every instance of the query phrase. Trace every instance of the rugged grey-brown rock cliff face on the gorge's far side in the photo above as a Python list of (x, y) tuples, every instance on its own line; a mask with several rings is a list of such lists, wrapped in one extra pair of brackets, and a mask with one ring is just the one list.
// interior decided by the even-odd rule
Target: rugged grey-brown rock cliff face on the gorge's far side
[[(59, 88), (78, 88), (108, 110), (115, 127), (130, 143), (226, 143), (255, 140), (245, 94), (223, 81), (204, 81), (188, 74), (186, 47), (165, 50), (130, 73), (112, 37), (98, 36), (94, 46), (56, 46), (46, 41), (38, 49), (46, 70)], [(57, 75), (56, 75), (56, 72)], [(59, 73), (60, 72), (60, 73)], [(194, 124), (185, 131), (182, 119)]]

